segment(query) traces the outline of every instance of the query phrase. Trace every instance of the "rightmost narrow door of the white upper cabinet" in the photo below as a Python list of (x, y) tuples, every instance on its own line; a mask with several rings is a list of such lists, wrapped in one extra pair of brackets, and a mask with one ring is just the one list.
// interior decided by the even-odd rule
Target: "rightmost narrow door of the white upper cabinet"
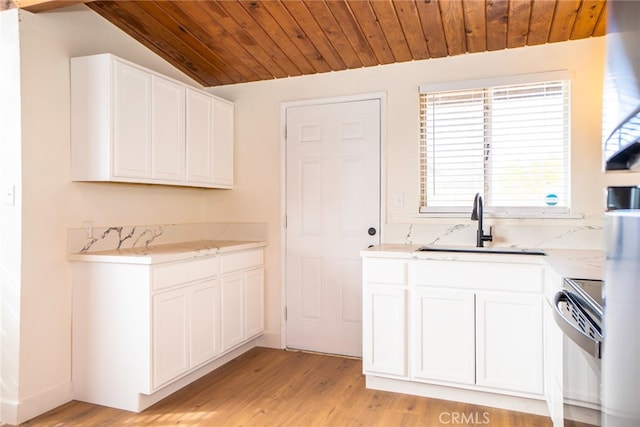
[(214, 99), (213, 182), (222, 187), (233, 185), (233, 104)]

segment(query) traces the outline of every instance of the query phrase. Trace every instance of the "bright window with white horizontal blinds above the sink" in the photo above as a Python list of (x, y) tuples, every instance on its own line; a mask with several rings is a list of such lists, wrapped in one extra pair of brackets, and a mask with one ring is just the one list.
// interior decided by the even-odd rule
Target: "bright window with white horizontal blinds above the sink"
[(570, 81), (544, 77), (420, 87), (420, 212), (568, 213)]

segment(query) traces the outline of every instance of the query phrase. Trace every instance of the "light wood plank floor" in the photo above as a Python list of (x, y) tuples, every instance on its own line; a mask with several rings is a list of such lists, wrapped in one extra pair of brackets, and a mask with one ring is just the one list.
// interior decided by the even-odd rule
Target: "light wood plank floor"
[[(467, 422), (453, 422), (463, 416)], [(140, 414), (73, 401), (21, 425), (536, 427), (551, 420), (367, 390), (360, 360), (255, 348)]]

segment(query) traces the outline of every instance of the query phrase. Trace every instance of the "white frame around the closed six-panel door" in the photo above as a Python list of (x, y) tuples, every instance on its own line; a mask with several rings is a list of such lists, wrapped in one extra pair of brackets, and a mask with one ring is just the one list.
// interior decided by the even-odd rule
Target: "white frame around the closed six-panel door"
[(370, 92), (356, 95), (334, 96), (327, 98), (313, 98), (299, 101), (285, 101), (280, 103), (280, 348), (287, 348), (287, 322), (285, 307), (287, 305), (287, 108), (307, 107), (322, 104), (336, 104), (355, 101), (380, 101), (380, 242), (384, 241), (386, 220), (386, 136), (387, 136), (387, 97), (386, 92)]

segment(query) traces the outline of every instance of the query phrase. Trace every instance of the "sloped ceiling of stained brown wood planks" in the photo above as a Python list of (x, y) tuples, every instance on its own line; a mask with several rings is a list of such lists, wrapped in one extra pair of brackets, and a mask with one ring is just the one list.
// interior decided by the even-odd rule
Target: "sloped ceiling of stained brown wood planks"
[(72, 3), (204, 86), (441, 58), (605, 34), (605, 0), (14, 0)]

